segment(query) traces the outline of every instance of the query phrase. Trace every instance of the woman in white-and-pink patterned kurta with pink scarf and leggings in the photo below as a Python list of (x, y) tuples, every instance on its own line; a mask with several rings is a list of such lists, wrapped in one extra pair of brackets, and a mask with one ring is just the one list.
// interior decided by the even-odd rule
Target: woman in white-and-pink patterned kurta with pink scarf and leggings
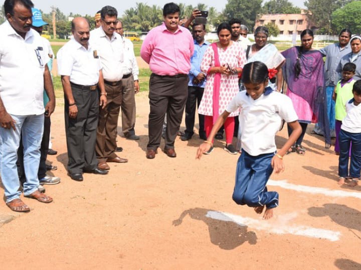
[[(211, 132), (214, 122), (226, 109), (228, 103), (238, 93), (238, 75), (246, 63), (244, 49), (231, 40), (231, 26), (221, 23), (217, 34), (220, 41), (211, 44), (202, 59), (201, 70), (207, 73), (207, 83), (203, 93), (199, 113), (205, 115), (206, 135)], [(232, 145), (234, 132), (234, 116), (239, 111), (232, 112), (224, 123), (226, 131), (225, 150), (236, 154)]]

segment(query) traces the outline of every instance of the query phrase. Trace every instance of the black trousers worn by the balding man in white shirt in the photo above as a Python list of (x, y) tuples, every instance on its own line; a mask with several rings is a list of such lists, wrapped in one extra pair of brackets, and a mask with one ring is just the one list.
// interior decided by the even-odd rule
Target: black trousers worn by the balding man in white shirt
[(68, 171), (71, 174), (93, 170), (98, 161), (95, 154), (96, 132), (99, 116), (99, 94), (97, 90), (81, 89), (72, 85), (76, 118), (69, 118), (69, 102), (65, 98), (64, 118), (68, 148)]

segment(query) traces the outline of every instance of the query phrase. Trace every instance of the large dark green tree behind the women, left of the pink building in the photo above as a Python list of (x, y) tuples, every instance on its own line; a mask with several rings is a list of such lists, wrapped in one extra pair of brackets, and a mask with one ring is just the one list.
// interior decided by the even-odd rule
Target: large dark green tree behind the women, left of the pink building
[(256, 17), (261, 10), (262, 0), (228, 0), (223, 15), (226, 21), (239, 18), (249, 29), (253, 29)]

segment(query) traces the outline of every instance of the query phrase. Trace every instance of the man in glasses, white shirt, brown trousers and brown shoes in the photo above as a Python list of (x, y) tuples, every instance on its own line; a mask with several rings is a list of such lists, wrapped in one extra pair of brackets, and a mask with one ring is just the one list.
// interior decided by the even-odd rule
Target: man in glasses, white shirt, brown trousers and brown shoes
[(107, 105), (99, 112), (96, 155), (99, 169), (110, 169), (107, 162), (125, 163), (115, 151), (118, 117), (122, 103), (123, 41), (115, 32), (118, 23), (117, 10), (106, 5), (100, 10), (100, 27), (91, 31), (90, 43), (96, 49), (104, 75)]

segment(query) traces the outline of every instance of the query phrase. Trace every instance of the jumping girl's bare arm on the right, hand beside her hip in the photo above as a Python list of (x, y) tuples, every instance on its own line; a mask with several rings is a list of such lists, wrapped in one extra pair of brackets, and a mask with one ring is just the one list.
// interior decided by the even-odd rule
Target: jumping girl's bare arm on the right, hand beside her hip
[(292, 128), (292, 133), (289, 136), (286, 143), (283, 147), (275, 154), (272, 158), (271, 164), (273, 167), (274, 172), (279, 173), (284, 171), (284, 164), (283, 164), (283, 156), (285, 155), (286, 151), (294, 144), (297, 138), (301, 135), (302, 128), (298, 121), (293, 121), (288, 123), (289, 126)]

